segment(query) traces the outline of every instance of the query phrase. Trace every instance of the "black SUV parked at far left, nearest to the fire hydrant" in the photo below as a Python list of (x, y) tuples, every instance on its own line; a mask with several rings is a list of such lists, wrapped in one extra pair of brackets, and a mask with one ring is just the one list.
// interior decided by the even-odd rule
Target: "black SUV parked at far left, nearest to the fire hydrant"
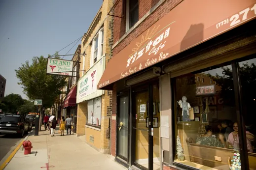
[(29, 123), (24, 116), (8, 114), (0, 119), (0, 134), (17, 134), (23, 137), (29, 131)]

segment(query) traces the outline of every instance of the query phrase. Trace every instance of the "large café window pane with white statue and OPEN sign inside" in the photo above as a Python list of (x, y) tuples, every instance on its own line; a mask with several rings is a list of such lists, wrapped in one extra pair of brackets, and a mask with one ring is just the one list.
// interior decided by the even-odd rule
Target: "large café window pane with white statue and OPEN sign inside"
[(232, 132), (240, 128), (231, 65), (174, 78), (172, 85), (174, 162), (198, 169), (229, 170), (233, 149), (239, 148)]

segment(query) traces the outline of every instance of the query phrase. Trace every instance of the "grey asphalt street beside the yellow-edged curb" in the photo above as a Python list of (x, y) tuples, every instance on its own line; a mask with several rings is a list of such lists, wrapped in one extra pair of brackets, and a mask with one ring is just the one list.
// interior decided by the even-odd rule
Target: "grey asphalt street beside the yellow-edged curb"
[(0, 135), (0, 161), (3, 157), (9, 152), (15, 149), (15, 145), (18, 144), (22, 139), (26, 137), (26, 134), (23, 138), (20, 138), (16, 135)]

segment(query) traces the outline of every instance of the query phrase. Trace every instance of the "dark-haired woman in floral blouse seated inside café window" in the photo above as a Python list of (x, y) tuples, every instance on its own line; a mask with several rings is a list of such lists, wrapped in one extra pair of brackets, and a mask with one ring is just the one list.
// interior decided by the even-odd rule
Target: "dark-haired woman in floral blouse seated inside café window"
[(224, 136), (219, 134), (219, 139), (212, 136), (212, 129), (209, 125), (200, 125), (198, 136), (196, 138), (196, 144), (215, 146), (215, 147), (226, 147)]

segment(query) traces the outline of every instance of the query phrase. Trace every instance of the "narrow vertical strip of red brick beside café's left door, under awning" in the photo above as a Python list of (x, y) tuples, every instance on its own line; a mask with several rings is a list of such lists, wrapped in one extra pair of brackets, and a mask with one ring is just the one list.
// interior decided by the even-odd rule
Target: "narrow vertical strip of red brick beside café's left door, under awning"
[[(116, 116), (116, 87), (113, 85), (113, 91), (112, 91), (112, 116)], [(111, 155), (115, 156), (115, 146), (116, 146), (116, 119), (111, 119)]]

